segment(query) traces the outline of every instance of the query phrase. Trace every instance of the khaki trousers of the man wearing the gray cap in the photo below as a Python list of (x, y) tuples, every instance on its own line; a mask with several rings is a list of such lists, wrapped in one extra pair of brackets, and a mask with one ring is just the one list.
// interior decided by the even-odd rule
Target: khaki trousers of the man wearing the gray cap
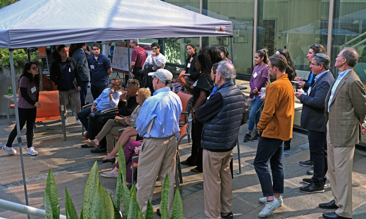
[(170, 216), (173, 211), (174, 177), (177, 154), (177, 138), (171, 135), (166, 138), (145, 138), (141, 145), (139, 165), (137, 167), (137, 202), (142, 207), (142, 214), (146, 213), (147, 201), (152, 201), (158, 176), (162, 184), (165, 175), (169, 177)]

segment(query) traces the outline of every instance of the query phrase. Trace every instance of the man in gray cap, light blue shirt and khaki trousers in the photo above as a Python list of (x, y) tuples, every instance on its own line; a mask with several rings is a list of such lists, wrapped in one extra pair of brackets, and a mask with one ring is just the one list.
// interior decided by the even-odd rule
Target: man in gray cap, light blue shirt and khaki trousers
[(170, 91), (172, 73), (158, 69), (148, 75), (152, 76), (155, 92), (154, 96), (145, 100), (136, 120), (136, 130), (143, 136), (137, 171), (137, 202), (142, 207), (142, 214), (145, 215), (147, 201), (153, 198), (156, 176), (159, 176), (163, 184), (165, 175), (168, 174), (168, 210), (171, 216), (182, 102), (177, 94)]

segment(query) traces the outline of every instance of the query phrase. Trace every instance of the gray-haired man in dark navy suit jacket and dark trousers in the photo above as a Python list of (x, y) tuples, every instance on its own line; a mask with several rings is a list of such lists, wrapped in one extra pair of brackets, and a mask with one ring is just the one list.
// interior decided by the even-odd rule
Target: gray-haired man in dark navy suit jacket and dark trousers
[(300, 188), (301, 192), (324, 192), (325, 174), (328, 169), (326, 159), (325, 136), (325, 97), (334, 82), (334, 76), (329, 71), (330, 59), (326, 54), (315, 54), (310, 61), (310, 69), (314, 74), (308, 94), (295, 92), (295, 96), (303, 103), (301, 127), (307, 129), (309, 150), (314, 163), (314, 176), (303, 179), (308, 184)]

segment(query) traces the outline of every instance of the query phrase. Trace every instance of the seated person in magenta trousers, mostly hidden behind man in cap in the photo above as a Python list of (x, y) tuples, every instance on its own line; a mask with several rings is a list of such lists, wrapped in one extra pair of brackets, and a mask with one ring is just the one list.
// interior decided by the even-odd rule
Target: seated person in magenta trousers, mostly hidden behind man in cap
[[(132, 158), (140, 155), (141, 144), (142, 144), (142, 142), (130, 141), (123, 148), (124, 159), (126, 160), (126, 182), (127, 183), (132, 182), (132, 171), (131, 171)], [(119, 164), (117, 162), (116, 166), (111, 171), (109, 171), (108, 173), (105, 173), (105, 174), (103, 173), (103, 174), (101, 174), (101, 176), (104, 178), (117, 178), (118, 177), (118, 168), (119, 168)]]

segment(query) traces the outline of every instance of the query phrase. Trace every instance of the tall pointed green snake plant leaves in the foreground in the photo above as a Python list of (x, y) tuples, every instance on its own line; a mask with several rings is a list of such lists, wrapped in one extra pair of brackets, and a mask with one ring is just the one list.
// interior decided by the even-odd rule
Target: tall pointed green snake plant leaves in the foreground
[[(118, 162), (120, 167), (117, 178), (115, 201), (112, 201), (111, 195), (108, 194), (102, 184), (99, 183), (98, 164), (95, 162), (89, 173), (88, 180), (86, 181), (84, 201), (81, 208), (80, 218), (78, 217), (74, 203), (72, 202), (71, 197), (65, 188), (65, 211), (67, 219), (154, 219), (154, 210), (150, 201), (147, 202), (146, 214), (143, 218), (142, 208), (140, 208), (136, 200), (135, 185), (132, 185), (131, 189), (127, 188), (126, 162), (121, 144), (118, 154)], [(124, 213), (120, 212), (121, 197), (124, 203)], [(170, 218), (168, 211), (168, 199), (169, 178), (168, 174), (166, 174), (162, 189), (162, 219)], [(56, 182), (51, 170), (48, 172), (43, 202), (46, 211), (46, 219), (59, 219), (60, 204), (57, 194)], [(178, 189), (174, 198), (172, 219), (183, 219), (183, 204)]]

